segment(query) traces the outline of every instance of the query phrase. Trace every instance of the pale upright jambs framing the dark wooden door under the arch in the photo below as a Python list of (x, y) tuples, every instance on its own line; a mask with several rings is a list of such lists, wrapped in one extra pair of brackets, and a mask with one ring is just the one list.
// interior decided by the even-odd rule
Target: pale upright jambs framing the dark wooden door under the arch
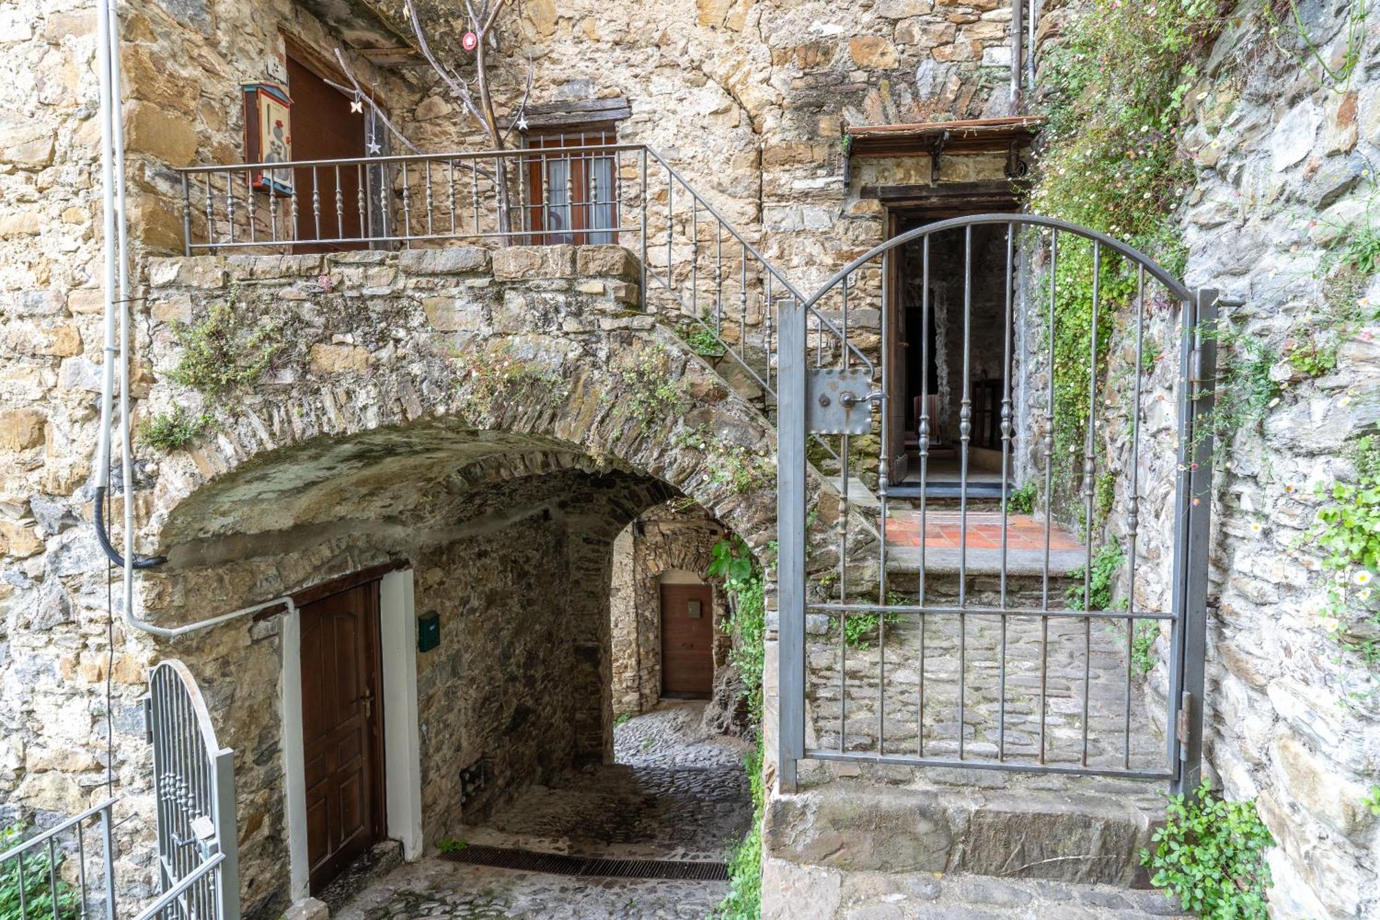
[[(283, 711), (283, 787), (287, 815), (288, 884), (294, 902), (306, 898), (306, 774), (302, 743), (302, 617), (283, 615), (279, 703)], [(422, 855), (421, 732), (417, 718), (417, 613), (413, 569), (385, 573), (378, 586), (378, 631), (384, 685), (384, 808), (386, 833), (403, 859)]]

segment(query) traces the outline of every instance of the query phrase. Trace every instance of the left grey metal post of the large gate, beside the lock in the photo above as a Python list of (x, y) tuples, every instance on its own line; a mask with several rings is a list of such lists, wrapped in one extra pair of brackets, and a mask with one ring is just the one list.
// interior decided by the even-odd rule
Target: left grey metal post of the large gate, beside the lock
[(777, 340), (777, 785), (805, 756), (805, 305), (781, 305)]

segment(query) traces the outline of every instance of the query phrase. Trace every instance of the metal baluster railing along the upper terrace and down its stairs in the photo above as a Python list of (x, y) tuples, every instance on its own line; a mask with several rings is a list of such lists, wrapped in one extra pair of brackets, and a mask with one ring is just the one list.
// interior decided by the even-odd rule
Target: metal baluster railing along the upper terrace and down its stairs
[[(776, 396), (780, 309), (805, 303), (741, 231), (642, 144), (196, 166), (179, 173), (188, 256), (447, 242), (622, 245), (642, 260), (644, 307), (667, 314), (711, 362), (733, 362), (763, 402)], [(825, 315), (811, 312), (810, 329), (820, 361), (849, 349), (869, 365)]]

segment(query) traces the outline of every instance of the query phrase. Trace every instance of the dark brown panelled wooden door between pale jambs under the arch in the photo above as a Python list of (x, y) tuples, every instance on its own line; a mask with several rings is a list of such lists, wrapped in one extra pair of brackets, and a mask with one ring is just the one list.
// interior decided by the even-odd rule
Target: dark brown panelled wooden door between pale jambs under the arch
[(378, 582), (301, 612), (306, 852), (313, 892), (384, 836)]

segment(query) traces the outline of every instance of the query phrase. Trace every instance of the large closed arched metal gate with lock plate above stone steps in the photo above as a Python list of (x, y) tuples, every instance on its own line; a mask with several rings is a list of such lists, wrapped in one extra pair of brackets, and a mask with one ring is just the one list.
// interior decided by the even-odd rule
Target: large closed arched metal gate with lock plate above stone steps
[[(983, 214), (781, 307), (782, 790), (802, 758), (1198, 783), (1216, 304), (1107, 235)], [(810, 437), (838, 456), (814, 508)]]

